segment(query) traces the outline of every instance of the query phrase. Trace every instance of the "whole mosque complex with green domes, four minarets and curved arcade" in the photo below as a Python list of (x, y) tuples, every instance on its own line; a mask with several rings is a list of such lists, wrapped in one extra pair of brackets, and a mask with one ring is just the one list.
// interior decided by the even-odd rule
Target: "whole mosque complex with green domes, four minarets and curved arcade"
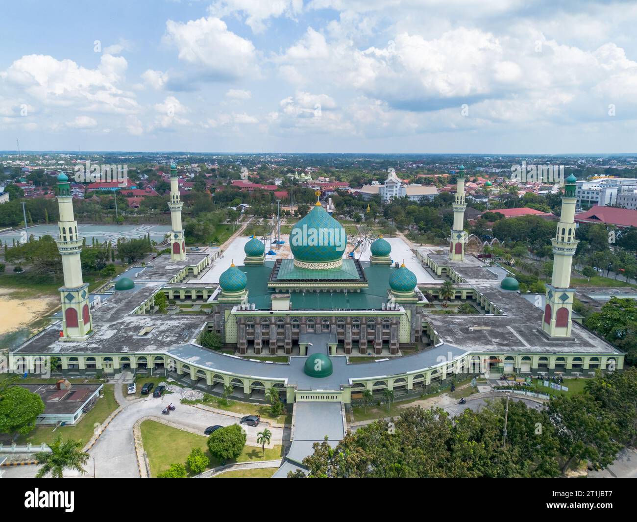
[[(252, 402), (278, 389), (294, 404), (291, 469), (314, 440), (342, 438), (344, 412), (364, 390), (382, 398), (390, 389), (399, 398), (441, 389), (466, 374), (588, 377), (624, 365), (624, 353), (572, 319), (572, 175), (545, 296), (520, 294), (505, 268), (465, 256), (464, 167), (448, 250), (380, 236), (368, 254), (356, 257), (347, 252), (343, 226), (317, 201), (290, 233), (292, 257), (269, 256), (257, 238), (237, 238), (245, 243), (241, 263), (229, 259), (230, 252), (187, 249), (173, 165), (170, 254), (129, 268), (97, 295), (82, 279), (82, 235), (69, 180), (61, 174), (57, 181), (61, 319), (12, 351), (10, 364), (34, 368), (55, 356), (64, 375), (168, 375), (212, 394), (232, 386), (236, 398)], [(394, 250), (404, 259), (394, 259)], [(453, 282), (452, 298), (445, 296), (445, 281)], [(155, 305), (159, 293), (175, 303), (168, 314)], [(221, 336), (221, 351), (199, 343), (207, 331)], [(287, 362), (275, 362), (282, 356)]]

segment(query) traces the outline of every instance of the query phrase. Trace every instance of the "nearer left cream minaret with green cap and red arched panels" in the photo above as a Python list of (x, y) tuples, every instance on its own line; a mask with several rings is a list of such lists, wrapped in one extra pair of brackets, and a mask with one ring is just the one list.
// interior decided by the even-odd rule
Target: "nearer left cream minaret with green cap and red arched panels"
[(82, 280), (82, 236), (73, 215), (71, 184), (65, 174), (57, 177), (57, 205), (60, 211), (57, 250), (62, 256), (64, 286), (59, 288), (62, 300), (62, 340), (82, 341), (92, 333), (89, 307), (89, 284)]

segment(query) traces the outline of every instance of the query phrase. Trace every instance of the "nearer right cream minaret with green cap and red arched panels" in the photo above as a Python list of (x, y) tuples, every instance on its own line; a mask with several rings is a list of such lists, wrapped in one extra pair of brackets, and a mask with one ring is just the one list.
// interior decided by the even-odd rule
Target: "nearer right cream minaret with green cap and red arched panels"
[(542, 330), (550, 337), (571, 337), (571, 310), (575, 292), (571, 284), (571, 264), (577, 247), (575, 239), (575, 202), (577, 178), (571, 174), (566, 178), (562, 212), (557, 223), (553, 244), (553, 276), (547, 284), (547, 305), (544, 309)]

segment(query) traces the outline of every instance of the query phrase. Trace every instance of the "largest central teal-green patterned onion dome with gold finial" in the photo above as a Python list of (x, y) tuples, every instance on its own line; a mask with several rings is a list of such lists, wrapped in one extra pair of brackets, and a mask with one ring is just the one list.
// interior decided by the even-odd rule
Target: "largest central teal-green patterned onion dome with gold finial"
[[(343, 261), (347, 235), (343, 226), (317, 203), (290, 232), (294, 265), (301, 268), (338, 268)], [(320, 265), (329, 263), (332, 266)]]

